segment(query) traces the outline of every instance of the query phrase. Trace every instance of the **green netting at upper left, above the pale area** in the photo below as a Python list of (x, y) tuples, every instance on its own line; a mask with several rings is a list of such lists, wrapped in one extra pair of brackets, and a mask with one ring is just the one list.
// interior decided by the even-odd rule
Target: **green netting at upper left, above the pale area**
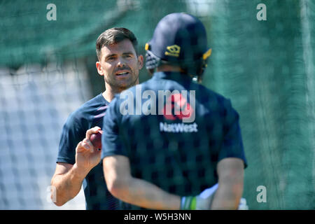
[[(141, 45), (167, 13), (185, 11), (184, 1), (54, 1), (56, 20), (47, 20), (50, 1), (2, 1), (0, 64), (45, 62), (94, 55), (99, 34), (125, 26)], [(162, 8), (161, 8), (162, 6)], [(157, 10), (158, 9), (158, 10)]]

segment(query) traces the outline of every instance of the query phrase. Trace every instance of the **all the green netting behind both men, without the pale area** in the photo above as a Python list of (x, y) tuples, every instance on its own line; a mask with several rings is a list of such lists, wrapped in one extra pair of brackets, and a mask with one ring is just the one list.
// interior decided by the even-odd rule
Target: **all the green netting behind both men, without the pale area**
[[(56, 0), (56, 21), (46, 19), (48, 3), (1, 1), (0, 66), (86, 57), (94, 69), (105, 29), (131, 29), (144, 53), (163, 16), (197, 15), (213, 48), (204, 85), (232, 99), (241, 116), (249, 208), (315, 209), (315, 1)], [(266, 21), (256, 18), (259, 3)], [(257, 201), (258, 186), (267, 202)]]

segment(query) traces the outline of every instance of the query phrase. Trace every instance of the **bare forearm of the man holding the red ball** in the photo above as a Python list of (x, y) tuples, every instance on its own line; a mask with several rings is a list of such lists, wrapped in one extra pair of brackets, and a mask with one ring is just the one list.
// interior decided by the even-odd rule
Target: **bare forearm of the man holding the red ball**
[(52, 178), (51, 185), (55, 187), (55, 193), (52, 193), (53, 202), (57, 206), (62, 206), (73, 197), (78, 195), (83, 183), (83, 179), (89, 171), (79, 169), (76, 164), (71, 167), (66, 174), (58, 174)]

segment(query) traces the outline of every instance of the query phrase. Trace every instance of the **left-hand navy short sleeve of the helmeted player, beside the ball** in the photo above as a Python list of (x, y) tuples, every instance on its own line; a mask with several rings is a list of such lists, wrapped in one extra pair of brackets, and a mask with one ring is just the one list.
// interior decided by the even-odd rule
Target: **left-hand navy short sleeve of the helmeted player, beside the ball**
[(119, 111), (119, 101), (114, 98), (109, 104), (106, 115), (103, 120), (102, 134), (102, 160), (106, 156), (125, 155), (123, 139), (121, 137), (119, 126), (122, 115)]

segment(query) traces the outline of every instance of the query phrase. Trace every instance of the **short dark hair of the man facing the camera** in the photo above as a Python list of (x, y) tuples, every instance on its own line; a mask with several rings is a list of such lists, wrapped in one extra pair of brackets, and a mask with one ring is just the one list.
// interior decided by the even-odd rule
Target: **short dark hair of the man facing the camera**
[(98, 59), (101, 59), (101, 52), (104, 46), (119, 43), (125, 39), (128, 39), (132, 42), (134, 50), (138, 55), (137, 50), (138, 41), (136, 36), (134, 36), (134, 34), (132, 33), (132, 31), (123, 27), (114, 27), (111, 29), (106, 29), (106, 31), (104, 31), (101, 35), (99, 35), (99, 38), (97, 38), (96, 52)]

